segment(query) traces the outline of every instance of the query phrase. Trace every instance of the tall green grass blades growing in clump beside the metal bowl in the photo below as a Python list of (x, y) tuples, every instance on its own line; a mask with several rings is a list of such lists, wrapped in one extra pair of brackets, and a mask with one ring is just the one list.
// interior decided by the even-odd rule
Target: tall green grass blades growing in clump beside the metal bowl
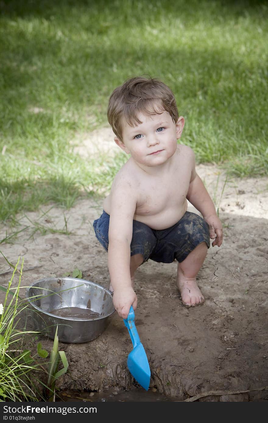
[[(1, 251), (0, 255), (3, 255)], [(36, 341), (38, 336), (34, 335), (40, 332), (26, 330), (28, 304), (19, 296), (23, 259), (21, 268), (18, 269), (20, 257), (15, 265), (8, 261), (5, 255), (3, 257), (14, 270), (8, 287), (0, 286), (0, 291), (6, 294), (3, 304), (0, 303), (0, 402), (46, 399), (55, 401), (57, 379), (66, 373), (69, 366), (65, 352), (58, 351), (58, 326), (48, 363), (39, 362), (39, 357), (48, 357), (48, 352), (42, 348), (41, 342), (37, 343), (37, 350), (33, 355), (30, 349), (22, 350), (23, 346), (29, 346), (31, 340)], [(14, 287), (12, 285), (15, 275), (19, 275), (19, 280)], [(30, 298), (34, 301), (33, 297)], [(21, 321), (22, 313), (25, 314), (25, 321)], [(59, 370), (61, 363), (63, 368)], [(37, 378), (38, 373), (41, 373), (41, 379), (46, 377), (47, 384)]]

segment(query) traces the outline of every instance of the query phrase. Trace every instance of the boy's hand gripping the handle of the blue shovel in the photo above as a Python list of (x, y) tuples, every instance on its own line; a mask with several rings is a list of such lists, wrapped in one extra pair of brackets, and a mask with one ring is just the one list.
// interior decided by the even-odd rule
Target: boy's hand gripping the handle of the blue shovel
[(114, 308), (116, 309), (119, 316), (123, 317), (123, 319), (127, 319), (131, 305), (133, 306), (133, 310), (136, 310), (137, 303), (137, 295), (135, 294), (132, 286), (117, 288), (115, 291), (113, 291)]

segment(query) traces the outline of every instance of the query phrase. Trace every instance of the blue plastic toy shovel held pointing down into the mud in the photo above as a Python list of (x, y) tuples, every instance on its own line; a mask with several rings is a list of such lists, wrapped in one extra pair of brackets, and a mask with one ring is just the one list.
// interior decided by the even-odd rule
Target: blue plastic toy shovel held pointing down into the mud
[(131, 306), (127, 319), (124, 319), (124, 324), (127, 327), (133, 343), (133, 350), (127, 357), (127, 367), (134, 379), (136, 379), (136, 381), (147, 391), (149, 389), (151, 371), (144, 346), (140, 341), (134, 321), (135, 314)]

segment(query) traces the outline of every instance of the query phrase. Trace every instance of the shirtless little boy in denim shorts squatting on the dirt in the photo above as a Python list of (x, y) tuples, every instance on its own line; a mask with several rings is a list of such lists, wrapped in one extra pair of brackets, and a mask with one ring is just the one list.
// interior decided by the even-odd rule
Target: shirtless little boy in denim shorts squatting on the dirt
[[(190, 147), (180, 145), (184, 118), (160, 80), (131, 78), (110, 96), (108, 121), (130, 159), (116, 174), (103, 213), (93, 223), (108, 251), (113, 304), (124, 319), (137, 296), (135, 270), (149, 258), (178, 261), (177, 287), (186, 307), (204, 302), (196, 284), (207, 249), (222, 243), (222, 225), (195, 170)], [(204, 217), (187, 211), (187, 199)]]

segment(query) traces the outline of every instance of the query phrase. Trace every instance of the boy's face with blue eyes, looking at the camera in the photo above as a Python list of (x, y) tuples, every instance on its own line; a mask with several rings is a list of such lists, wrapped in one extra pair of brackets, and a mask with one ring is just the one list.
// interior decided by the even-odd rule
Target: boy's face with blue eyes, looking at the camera
[(139, 165), (158, 166), (173, 156), (177, 149), (177, 139), (182, 134), (184, 118), (180, 116), (177, 124), (165, 110), (155, 115), (138, 114), (141, 124), (130, 126), (122, 121), (122, 141), (114, 140), (127, 154), (131, 154)]

